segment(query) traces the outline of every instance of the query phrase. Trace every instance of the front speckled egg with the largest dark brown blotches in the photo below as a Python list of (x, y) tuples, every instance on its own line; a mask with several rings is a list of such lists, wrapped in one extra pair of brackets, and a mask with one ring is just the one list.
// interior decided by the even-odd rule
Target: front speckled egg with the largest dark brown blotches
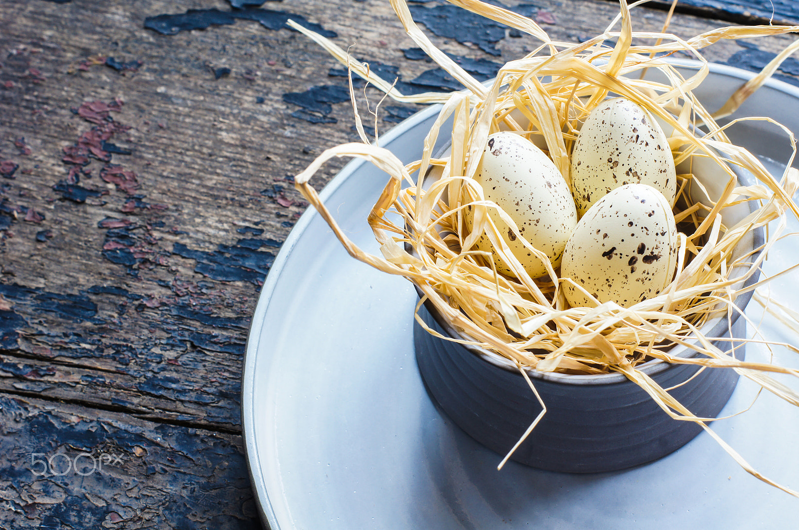
[[(600, 303), (630, 307), (671, 283), (677, 251), (677, 227), (666, 197), (647, 184), (626, 184), (582, 216), (563, 251), (561, 276)], [(574, 285), (561, 285), (572, 307), (594, 307)]]

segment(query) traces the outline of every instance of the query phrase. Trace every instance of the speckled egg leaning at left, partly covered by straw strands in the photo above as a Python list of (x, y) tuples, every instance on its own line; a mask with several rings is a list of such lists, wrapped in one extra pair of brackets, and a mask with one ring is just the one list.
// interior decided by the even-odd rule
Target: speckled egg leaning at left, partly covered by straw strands
[[(569, 186), (552, 160), (523, 136), (495, 133), (488, 137), (475, 180), (483, 187), (486, 200), (503, 208), (527, 242), (546, 254), (557, 268), (563, 247), (577, 226), (577, 210)], [(469, 212), (471, 207), (466, 216), (467, 227), (471, 230)], [(545, 275), (547, 269), (543, 261), (524, 247), (499, 217), (496, 208), (489, 208), (488, 215), (527, 274), (531, 278)], [(476, 246), (479, 250), (491, 251), (497, 271), (514, 275), (485, 235)]]

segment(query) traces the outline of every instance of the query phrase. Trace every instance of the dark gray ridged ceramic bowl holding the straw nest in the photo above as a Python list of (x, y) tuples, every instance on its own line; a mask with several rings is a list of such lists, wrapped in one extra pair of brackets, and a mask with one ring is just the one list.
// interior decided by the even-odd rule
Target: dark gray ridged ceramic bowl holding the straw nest
[[(718, 174), (718, 166), (714, 168), (714, 163), (706, 159), (694, 160), (694, 166), (702, 167), (702, 182), (710, 196), (720, 196), (726, 178)], [(752, 178), (738, 173), (741, 185), (749, 185)], [(723, 212), (726, 226), (754, 208), (751, 203), (727, 208)], [(763, 241), (761, 230), (750, 232), (733, 257), (760, 247)], [(745, 285), (757, 282), (758, 277), (750, 276)], [(738, 296), (735, 303), (743, 310), (750, 298), (748, 292)], [(463, 338), (431, 303), (425, 303), (419, 315), (440, 334)], [(728, 321), (726, 312), (720, 311), (702, 333), (708, 338), (745, 337), (746, 322), (738, 316), (733, 314)], [(516, 367), (489, 350), (436, 338), (418, 322), (414, 342), (419, 373), (432, 400), (471, 437), (505, 455), (541, 411)], [(743, 358), (744, 345), (735, 344), (736, 357)], [(714, 345), (722, 351), (731, 347), (726, 341)], [(671, 353), (686, 358), (696, 355), (682, 346), (675, 346)], [(698, 417), (716, 417), (733, 393), (738, 377), (731, 369), (699, 371), (697, 366), (660, 361), (639, 368), (662, 388), (677, 386), (670, 394)], [(528, 374), (547, 405), (547, 413), (512, 459), (535, 468), (571, 473), (625, 469), (666, 456), (702, 430), (692, 421), (674, 420), (622, 374), (569, 375), (535, 370), (528, 370)]]

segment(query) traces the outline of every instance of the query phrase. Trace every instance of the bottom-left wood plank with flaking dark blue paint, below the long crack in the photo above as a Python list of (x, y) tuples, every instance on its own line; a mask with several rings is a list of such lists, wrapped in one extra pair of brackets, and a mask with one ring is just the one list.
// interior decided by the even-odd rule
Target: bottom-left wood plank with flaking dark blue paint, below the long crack
[(260, 528), (238, 436), (7, 397), (0, 432), (2, 528)]

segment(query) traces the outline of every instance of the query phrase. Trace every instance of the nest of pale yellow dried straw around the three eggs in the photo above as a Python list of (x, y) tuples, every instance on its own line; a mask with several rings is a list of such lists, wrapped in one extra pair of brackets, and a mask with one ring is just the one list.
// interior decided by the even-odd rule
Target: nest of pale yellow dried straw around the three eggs
[[(723, 127), (716, 122), (733, 113), (757, 90), (781, 61), (799, 48), (799, 42), (780, 53), (715, 113), (705, 109), (692, 93), (709, 73), (702, 49), (722, 39), (785, 34), (799, 31), (799, 26), (726, 27), (683, 40), (666, 33), (667, 24), (662, 33), (635, 32), (630, 8), (643, 2), (628, 7), (621, 0), (618, 17), (605, 33), (575, 45), (551, 40), (530, 18), (509, 10), (477, 0), (448, 1), (530, 34), (541, 44), (526, 57), (507, 62), (491, 85), (483, 85), (430, 42), (411, 19), (403, 0), (391, 0), (407, 34), (465, 87), (454, 93), (405, 96), (334, 43), (290, 22), (388, 97), (442, 104), (439, 117), (424, 140), (422, 159), (406, 165), (392, 152), (379, 147), (378, 141), (370, 144), (357, 111), (355, 92), (351, 90), (356, 128), (363, 143), (328, 149), (296, 176), (296, 187), (353, 257), (415, 283), (423, 293), (422, 301), (433, 303), (443, 318), (463, 334), (462, 338), (449, 340), (473, 343), (503, 355), (515, 362), (523, 374), (524, 370), (625, 374), (672, 417), (702, 425), (749, 473), (799, 496), (762, 477), (708, 428), (706, 423), (710, 418), (694, 417), (636, 368), (651, 359), (733, 368), (762, 388), (799, 405), (797, 392), (769, 376), (769, 373), (797, 376), (797, 370), (740, 361), (730, 349), (712, 344), (718, 338), (705, 337), (701, 332), (710, 318), (719, 315), (732, 318), (739, 313), (734, 304), (737, 296), (768, 281), (761, 279), (749, 287), (741, 287), (760, 269), (769, 247), (784, 232), (788, 216), (799, 217), (799, 208), (792, 199), (799, 188), (799, 172), (790, 167), (793, 155), (785, 172), (772, 176), (756, 156), (729, 141), (725, 129), (735, 121)], [(608, 45), (613, 41), (612, 46)], [(689, 77), (666, 60), (676, 51), (690, 52), (700, 61)], [(652, 75), (655, 71), (657, 75)], [(475, 216), (474, 226), (467, 231), (464, 210), (470, 205), (483, 211), (499, 208), (484, 200), (483, 190), (473, 180), (487, 136), (499, 130), (516, 131), (527, 137), (542, 136), (548, 155), (568, 182), (569, 154), (576, 132), (590, 110), (609, 93), (642, 105), (674, 128), (669, 143), (675, 164), (685, 168), (683, 163), (687, 163), (688, 168), (678, 174), (678, 200), (674, 209), (680, 231), (678, 269), (665, 291), (633, 307), (623, 308), (613, 302), (597, 307), (569, 307), (561, 288), (569, 279), (560, 278), (559, 270), (552, 267), (543, 278), (532, 279), (502, 243), (490, 218), (483, 215), (482, 220), (477, 220), (479, 216)], [(452, 120), (451, 130), (444, 130), (448, 119)], [(795, 154), (793, 134), (774, 123), (785, 131)], [(451, 136), (451, 154), (434, 158), (433, 146), (439, 135)], [(327, 160), (341, 156), (363, 158), (388, 174), (388, 183), (368, 216), (382, 255), (371, 255), (356, 247), (308, 183)], [(694, 191), (696, 187), (702, 188), (690, 172), (691, 162), (697, 157), (713, 160), (727, 177), (721, 196), (713, 200), (691, 200), (692, 195), (702, 195), (690, 194), (692, 188)], [(735, 167), (749, 172), (755, 184), (739, 186)], [(431, 171), (441, 176), (424, 191), (424, 176)], [(734, 226), (722, 223), (724, 208), (749, 200), (757, 201), (757, 208), (749, 216)], [(515, 223), (508, 220), (515, 235), (522, 238)], [(765, 245), (733, 259), (733, 249), (756, 230), (767, 231)], [(481, 235), (490, 239), (505, 262), (511, 264), (515, 277), (499, 275), (491, 258), (475, 250), (473, 243)], [(783, 319), (795, 320), (789, 311), (780, 314)], [(669, 354), (674, 345), (688, 346), (697, 354), (674, 358)]]

